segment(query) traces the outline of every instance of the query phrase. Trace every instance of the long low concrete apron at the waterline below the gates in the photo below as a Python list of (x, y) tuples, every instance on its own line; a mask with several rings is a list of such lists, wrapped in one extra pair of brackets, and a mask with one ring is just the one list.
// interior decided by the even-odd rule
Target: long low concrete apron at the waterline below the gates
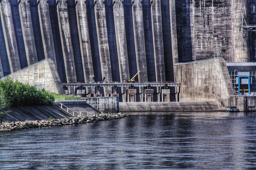
[(217, 102), (130, 102), (119, 103), (119, 112), (217, 111)]

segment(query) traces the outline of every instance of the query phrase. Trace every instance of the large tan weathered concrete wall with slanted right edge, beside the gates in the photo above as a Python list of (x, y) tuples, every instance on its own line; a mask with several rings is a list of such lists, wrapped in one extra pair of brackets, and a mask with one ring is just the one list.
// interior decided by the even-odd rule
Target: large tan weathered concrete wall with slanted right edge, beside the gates
[(216, 101), (220, 108), (229, 106), (234, 95), (224, 59), (175, 64), (176, 81), (180, 82), (180, 101)]

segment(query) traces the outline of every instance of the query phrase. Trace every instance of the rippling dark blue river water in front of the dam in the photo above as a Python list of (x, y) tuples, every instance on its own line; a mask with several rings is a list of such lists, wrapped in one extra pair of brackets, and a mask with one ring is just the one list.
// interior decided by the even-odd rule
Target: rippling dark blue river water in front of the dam
[(256, 169), (256, 113), (132, 113), (0, 132), (0, 170)]

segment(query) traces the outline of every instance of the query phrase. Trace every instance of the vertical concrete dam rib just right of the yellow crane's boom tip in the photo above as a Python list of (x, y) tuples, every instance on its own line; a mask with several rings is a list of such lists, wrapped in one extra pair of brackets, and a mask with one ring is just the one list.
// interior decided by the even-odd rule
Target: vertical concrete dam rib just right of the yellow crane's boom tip
[(144, 24), (141, 0), (132, 0), (132, 18), (139, 82), (147, 82), (147, 64), (144, 38)]

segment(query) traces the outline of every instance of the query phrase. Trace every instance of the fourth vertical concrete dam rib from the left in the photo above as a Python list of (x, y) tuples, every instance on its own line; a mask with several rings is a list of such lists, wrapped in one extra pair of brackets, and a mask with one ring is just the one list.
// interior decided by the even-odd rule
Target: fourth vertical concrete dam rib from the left
[(65, 64), (65, 73), (67, 83), (75, 83), (76, 81), (76, 68), (74, 62), (74, 54), (70, 35), (70, 24), (67, 13), (67, 3), (65, 0), (59, 0), (57, 4), (57, 12), (59, 19), (59, 29), (61, 35), (61, 45)]

